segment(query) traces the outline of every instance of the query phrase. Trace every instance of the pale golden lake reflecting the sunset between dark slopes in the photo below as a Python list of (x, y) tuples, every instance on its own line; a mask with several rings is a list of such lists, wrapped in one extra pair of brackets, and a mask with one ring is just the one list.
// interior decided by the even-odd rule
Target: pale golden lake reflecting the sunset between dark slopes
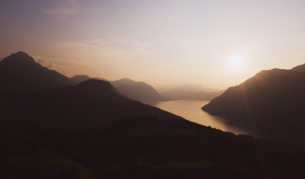
[(267, 138), (267, 136), (265, 136), (263, 133), (260, 133), (259, 131), (255, 131), (236, 122), (228, 121), (223, 117), (212, 116), (207, 112), (201, 110), (201, 107), (208, 103), (209, 101), (201, 100), (177, 100), (156, 102), (150, 105), (171, 112), (175, 115), (179, 115), (184, 119), (202, 124), (204, 126), (211, 126), (212, 128), (232, 132), (236, 135), (244, 134), (251, 135), (259, 139)]

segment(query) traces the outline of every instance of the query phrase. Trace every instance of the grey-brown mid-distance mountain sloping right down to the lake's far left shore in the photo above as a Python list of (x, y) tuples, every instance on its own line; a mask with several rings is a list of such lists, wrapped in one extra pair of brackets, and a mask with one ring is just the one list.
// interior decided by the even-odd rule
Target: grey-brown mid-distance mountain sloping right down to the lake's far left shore
[(120, 93), (143, 103), (168, 101), (168, 98), (163, 97), (152, 86), (142, 81), (136, 82), (129, 78), (122, 78), (117, 81), (110, 81), (110, 83)]

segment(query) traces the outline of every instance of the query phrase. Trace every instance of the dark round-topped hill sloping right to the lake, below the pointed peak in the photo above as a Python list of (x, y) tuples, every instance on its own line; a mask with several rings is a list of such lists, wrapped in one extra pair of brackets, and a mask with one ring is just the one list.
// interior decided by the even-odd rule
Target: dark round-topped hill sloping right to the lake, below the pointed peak
[(182, 119), (159, 108), (128, 99), (106, 81), (87, 80), (52, 94), (0, 94), (1, 128), (32, 126), (99, 129), (128, 116)]

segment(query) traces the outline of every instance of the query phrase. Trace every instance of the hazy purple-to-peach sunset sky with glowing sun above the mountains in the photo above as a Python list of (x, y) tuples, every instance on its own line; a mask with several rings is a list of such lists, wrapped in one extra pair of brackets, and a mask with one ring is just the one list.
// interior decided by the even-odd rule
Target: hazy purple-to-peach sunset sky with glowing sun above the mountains
[(67, 77), (226, 89), (305, 63), (304, 0), (0, 2), (0, 58)]

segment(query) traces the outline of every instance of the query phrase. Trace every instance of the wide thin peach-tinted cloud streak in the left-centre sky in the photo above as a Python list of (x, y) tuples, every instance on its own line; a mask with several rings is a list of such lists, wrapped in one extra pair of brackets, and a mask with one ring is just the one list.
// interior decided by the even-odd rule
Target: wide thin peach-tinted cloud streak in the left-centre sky
[(135, 40), (95, 39), (83, 43), (61, 42), (49, 45), (54, 53), (61, 53), (65, 61), (78, 64), (120, 64), (149, 54), (149, 43)]

